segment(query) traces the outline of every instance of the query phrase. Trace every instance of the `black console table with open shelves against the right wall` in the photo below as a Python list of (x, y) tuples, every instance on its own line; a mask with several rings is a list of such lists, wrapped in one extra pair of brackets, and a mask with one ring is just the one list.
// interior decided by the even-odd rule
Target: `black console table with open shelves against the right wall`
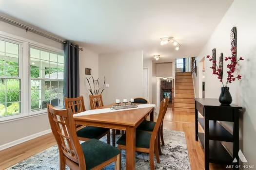
[[(195, 98), (196, 140), (199, 140), (204, 148), (205, 170), (209, 170), (209, 163), (233, 165), (238, 169), (239, 158), (239, 109), (242, 107), (231, 104), (222, 106), (217, 99)], [(203, 118), (198, 118), (198, 111)], [(234, 122), (233, 134), (228, 132), (217, 121)], [(198, 122), (204, 129), (204, 133), (198, 133)], [(231, 156), (220, 141), (233, 142), (233, 155)], [(233, 163), (236, 158), (238, 160)]]

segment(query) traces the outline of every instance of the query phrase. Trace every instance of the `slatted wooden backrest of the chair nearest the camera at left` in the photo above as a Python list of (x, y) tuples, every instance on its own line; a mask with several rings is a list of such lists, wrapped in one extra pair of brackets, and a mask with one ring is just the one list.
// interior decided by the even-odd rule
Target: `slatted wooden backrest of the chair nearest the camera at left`
[(78, 164), (85, 170), (85, 158), (78, 140), (71, 109), (59, 110), (51, 104), (47, 104), (47, 110), (51, 129), (59, 147), (60, 159), (74, 166)]

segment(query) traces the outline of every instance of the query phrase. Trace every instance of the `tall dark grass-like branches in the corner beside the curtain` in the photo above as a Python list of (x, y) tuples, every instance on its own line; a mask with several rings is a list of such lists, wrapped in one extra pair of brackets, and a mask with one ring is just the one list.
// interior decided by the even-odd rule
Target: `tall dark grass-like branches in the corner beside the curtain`
[(91, 95), (96, 96), (96, 95), (102, 94), (103, 91), (105, 90), (105, 88), (104, 88), (105, 83), (106, 83), (105, 77), (104, 77), (103, 83), (100, 83), (100, 78), (95, 80), (93, 76), (91, 76), (89, 78), (86, 77), (86, 80), (89, 84), (90, 89), (88, 89), (88, 90), (90, 91)]

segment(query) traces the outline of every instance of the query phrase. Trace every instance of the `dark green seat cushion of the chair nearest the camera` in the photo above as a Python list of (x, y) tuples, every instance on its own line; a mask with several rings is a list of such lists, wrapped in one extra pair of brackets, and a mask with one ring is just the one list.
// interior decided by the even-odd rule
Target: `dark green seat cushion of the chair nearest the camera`
[(81, 143), (81, 147), (85, 157), (86, 170), (91, 170), (120, 153), (116, 147), (97, 139), (90, 139), (83, 142)]

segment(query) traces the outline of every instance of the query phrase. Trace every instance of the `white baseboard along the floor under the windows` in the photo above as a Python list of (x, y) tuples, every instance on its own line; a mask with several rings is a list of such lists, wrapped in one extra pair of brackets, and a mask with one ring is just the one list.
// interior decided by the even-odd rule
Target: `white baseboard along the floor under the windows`
[(3, 145), (0, 145), (0, 151), (2, 151), (2, 150), (4, 150), (4, 149), (7, 149), (7, 148), (10, 148), (10, 147), (12, 147), (12, 146), (18, 145), (18, 144), (20, 144), (20, 143), (26, 142), (26, 141), (28, 141), (28, 140), (34, 139), (34, 138), (36, 138), (36, 137), (49, 134), (49, 133), (51, 133), (51, 132), (52, 132), (52, 130), (51, 130), (51, 129), (48, 129), (48, 130), (45, 130), (45, 131), (42, 131), (42, 132), (39, 132), (39, 133), (30, 135), (30, 136), (22, 137), (22, 138), (20, 138), (20, 139), (18, 139), (18, 140), (15, 140), (15, 141), (12, 141), (12, 142), (9, 142), (9, 143), (5, 143), (5, 144), (3, 144)]

